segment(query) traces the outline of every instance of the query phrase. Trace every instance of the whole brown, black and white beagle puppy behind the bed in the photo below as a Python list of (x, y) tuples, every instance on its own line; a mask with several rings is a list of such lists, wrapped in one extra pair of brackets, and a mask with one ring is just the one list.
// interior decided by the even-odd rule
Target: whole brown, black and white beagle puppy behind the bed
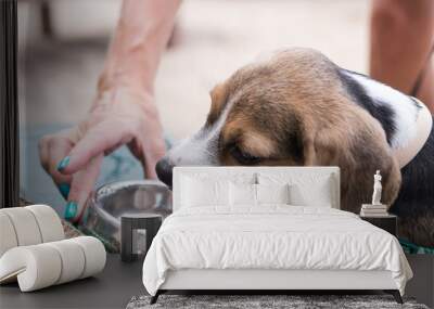
[(434, 247), (433, 117), (417, 99), (301, 48), (240, 68), (210, 98), (202, 129), (156, 165), (163, 182), (183, 165), (339, 166), (341, 207), (358, 213), (380, 169), (399, 236)]

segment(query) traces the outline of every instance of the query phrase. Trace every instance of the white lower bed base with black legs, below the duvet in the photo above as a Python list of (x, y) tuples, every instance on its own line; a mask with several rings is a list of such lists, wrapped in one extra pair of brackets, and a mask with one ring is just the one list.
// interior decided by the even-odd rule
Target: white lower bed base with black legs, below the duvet
[(403, 304), (390, 271), (355, 270), (199, 270), (169, 271), (165, 283), (151, 298), (167, 292), (206, 292), (209, 294), (352, 294), (383, 291)]

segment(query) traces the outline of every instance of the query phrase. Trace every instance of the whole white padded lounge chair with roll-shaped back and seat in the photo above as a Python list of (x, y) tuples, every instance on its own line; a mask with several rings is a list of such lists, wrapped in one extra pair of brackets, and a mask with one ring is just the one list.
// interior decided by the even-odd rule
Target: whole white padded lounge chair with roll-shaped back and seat
[(47, 205), (0, 209), (0, 284), (22, 292), (94, 275), (105, 266), (95, 237), (65, 240), (61, 219)]

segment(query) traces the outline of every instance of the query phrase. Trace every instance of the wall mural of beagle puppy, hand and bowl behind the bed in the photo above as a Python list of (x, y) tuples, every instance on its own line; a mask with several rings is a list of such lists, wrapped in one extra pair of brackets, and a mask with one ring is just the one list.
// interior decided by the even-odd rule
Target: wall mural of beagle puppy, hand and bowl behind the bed
[(429, 43), (408, 60), (403, 51), (401, 65), (419, 61), (414, 72), (391, 64), (381, 25), (373, 20), (366, 35), (365, 16), (378, 9), (368, 1), (342, 3), (330, 15), (342, 23), (303, 34), (288, 16), (323, 18), (321, 3), (270, 3), (270, 18), (255, 2), (230, 12), (200, 1), (97, 2), (20, 3), (25, 199), (116, 250), (118, 228), (92, 207), (113, 220), (168, 215), (175, 166), (339, 166), (343, 210), (372, 202), (379, 171), (403, 247), (434, 254)]

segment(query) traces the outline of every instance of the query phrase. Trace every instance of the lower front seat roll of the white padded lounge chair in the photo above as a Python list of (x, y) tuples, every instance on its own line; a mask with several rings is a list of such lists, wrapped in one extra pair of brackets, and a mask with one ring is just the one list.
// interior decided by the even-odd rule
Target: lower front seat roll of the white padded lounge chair
[(91, 236), (14, 247), (0, 258), (0, 283), (17, 279), (30, 292), (94, 275), (105, 260), (104, 245)]

